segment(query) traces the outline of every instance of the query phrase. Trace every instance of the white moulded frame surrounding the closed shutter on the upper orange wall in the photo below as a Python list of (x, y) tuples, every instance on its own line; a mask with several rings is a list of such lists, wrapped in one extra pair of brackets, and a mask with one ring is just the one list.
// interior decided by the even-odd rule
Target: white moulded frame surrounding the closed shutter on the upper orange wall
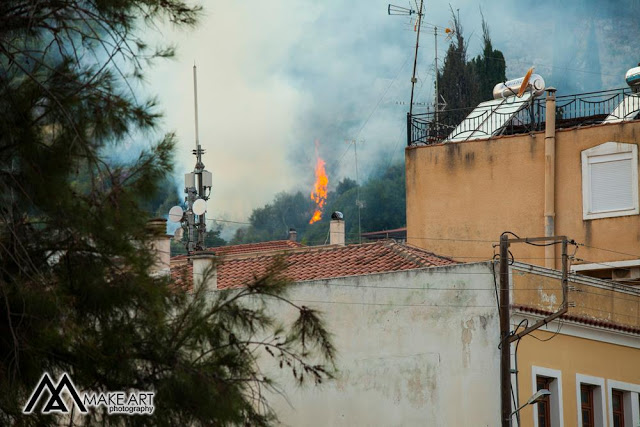
[[(606, 157), (618, 160), (631, 160), (631, 195), (633, 207), (628, 209), (616, 209), (607, 211), (592, 211), (591, 203), (591, 160), (599, 158), (593, 163), (600, 163)], [(620, 158), (622, 157), (622, 158)], [(583, 150), (581, 152), (582, 159), (582, 219), (599, 219), (614, 218), (619, 216), (629, 216), (640, 214), (640, 205), (638, 203), (638, 146), (636, 144), (625, 142), (605, 142), (595, 147)]]

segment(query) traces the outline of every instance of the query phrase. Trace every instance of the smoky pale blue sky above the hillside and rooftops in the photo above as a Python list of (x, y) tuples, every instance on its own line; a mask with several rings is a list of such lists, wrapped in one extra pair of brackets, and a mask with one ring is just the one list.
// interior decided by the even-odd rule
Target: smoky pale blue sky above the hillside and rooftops
[[(593, 7), (579, 7), (585, 3)], [(315, 140), (327, 160), (330, 189), (345, 176), (355, 178), (353, 148), (347, 151), (346, 140), (359, 142), (361, 178), (403, 160), (416, 35), (409, 17), (388, 16), (388, 1), (378, 0), (203, 5), (197, 29), (164, 31), (163, 38), (177, 44), (178, 58), (154, 68), (148, 89), (159, 95), (165, 128), (179, 137), (181, 186), (182, 174), (194, 166), (192, 66), (197, 63), (200, 141), (214, 180), (209, 217), (244, 221), (279, 191), (310, 191)], [(448, 3), (425, 5), (425, 21), (449, 25)], [(508, 78), (535, 65), (547, 84), (564, 86), (559, 94), (622, 87), (624, 71), (640, 60), (631, 41), (615, 49), (609, 45), (624, 23), (611, 18), (607, 27), (605, 18), (613, 12), (606, 2), (574, 0), (563, 2), (564, 9), (550, 0), (465, 0), (451, 6), (459, 9), (469, 56), (481, 46), (481, 6), (494, 47), (505, 53)], [(416, 101), (429, 102), (433, 34), (421, 34), (420, 44)], [(447, 46), (440, 37), (440, 58)], [(594, 65), (607, 61), (611, 66)]]

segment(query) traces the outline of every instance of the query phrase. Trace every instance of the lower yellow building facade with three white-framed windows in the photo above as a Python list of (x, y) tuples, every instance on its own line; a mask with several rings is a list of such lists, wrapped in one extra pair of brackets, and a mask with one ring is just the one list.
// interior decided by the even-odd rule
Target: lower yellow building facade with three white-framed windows
[[(559, 271), (515, 263), (510, 276), (512, 330), (521, 331), (561, 308)], [(517, 371), (512, 376), (513, 408), (541, 386), (551, 391), (543, 406), (525, 406), (512, 425), (636, 427), (640, 289), (572, 274), (568, 300), (566, 315), (511, 346)], [(583, 424), (583, 413), (590, 422)]]

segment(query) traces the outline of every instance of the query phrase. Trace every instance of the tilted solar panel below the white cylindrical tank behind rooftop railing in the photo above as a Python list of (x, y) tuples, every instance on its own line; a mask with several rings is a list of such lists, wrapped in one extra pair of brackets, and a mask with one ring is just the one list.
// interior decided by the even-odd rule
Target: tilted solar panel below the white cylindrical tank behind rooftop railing
[(531, 93), (518, 98), (509, 96), (480, 104), (449, 134), (445, 142), (468, 141), (496, 135), (514, 116), (527, 105)]

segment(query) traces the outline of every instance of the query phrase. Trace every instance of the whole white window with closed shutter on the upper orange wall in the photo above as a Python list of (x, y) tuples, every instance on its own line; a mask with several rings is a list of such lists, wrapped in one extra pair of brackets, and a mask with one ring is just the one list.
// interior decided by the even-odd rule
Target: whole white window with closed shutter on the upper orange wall
[(622, 142), (605, 142), (584, 150), (583, 219), (638, 213), (638, 146)]

